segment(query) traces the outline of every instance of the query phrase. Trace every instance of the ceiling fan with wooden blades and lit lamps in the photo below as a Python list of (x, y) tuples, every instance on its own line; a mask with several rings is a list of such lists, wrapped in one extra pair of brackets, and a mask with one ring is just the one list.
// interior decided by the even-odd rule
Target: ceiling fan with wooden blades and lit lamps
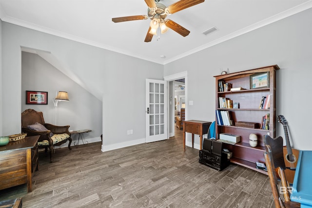
[(148, 15), (136, 15), (120, 18), (112, 18), (113, 22), (123, 22), (123, 21), (132, 21), (132, 20), (141, 20), (141, 19), (152, 19), (150, 23), (150, 28), (147, 31), (144, 42), (150, 42), (153, 38), (153, 35), (161, 34), (168, 31), (168, 28), (176, 31), (183, 37), (186, 37), (190, 34), (190, 31), (177, 24), (171, 19), (166, 19), (168, 15), (174, 14), (183, 9), (194, 6), (198, 3), (202, 3), (205, 0), (179, 0), (176, 3), (171, 4), (166, 7), (165, 5), (159, 3), (159, 0), (145, 0), (148, 10)]

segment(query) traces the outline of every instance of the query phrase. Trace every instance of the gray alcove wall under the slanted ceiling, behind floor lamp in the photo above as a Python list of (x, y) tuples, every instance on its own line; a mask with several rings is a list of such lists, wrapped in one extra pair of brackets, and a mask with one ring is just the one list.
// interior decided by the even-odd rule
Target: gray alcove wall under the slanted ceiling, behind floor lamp
[[(48, 104), (26, 105), (25, 91), (48, 92)], [(59, 91), (68, 92), (70, 101), (59, 102), (56, 111), (53, 101)], [(43, 112), (46, 123), (55, 124), (56, 118), (56, 125), (70, 125), (69, 130), (90, 129), (92, 132), (84, 133), (83, 138), (88, 142), (100, 141), (99, 136), (102, 134), (102, 101), (37, 54), (22, 52), (21, 111), (29, 108)], [(86, 111), (87, 108), (92, 109), (92, 111)], [(72, 138), (72, 145), (74, 145), (78, 135), (74, 134)], [(79, 144), (81, 143), (79, 142)]]

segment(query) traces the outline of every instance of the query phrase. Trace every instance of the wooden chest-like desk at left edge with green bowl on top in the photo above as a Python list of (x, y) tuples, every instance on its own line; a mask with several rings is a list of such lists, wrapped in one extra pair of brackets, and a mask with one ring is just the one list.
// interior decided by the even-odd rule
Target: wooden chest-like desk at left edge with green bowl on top
[(31, 192), (31, 149), (37, 145), (38, 136), (25, 137), (0, 147), (0, 189), (27, 183)]

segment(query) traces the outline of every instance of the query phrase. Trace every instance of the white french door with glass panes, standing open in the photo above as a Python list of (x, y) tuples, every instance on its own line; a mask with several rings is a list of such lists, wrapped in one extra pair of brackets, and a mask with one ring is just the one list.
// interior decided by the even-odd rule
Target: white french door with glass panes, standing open
[(167, 81), (146, 79), (146, 142), (167, 139)]

